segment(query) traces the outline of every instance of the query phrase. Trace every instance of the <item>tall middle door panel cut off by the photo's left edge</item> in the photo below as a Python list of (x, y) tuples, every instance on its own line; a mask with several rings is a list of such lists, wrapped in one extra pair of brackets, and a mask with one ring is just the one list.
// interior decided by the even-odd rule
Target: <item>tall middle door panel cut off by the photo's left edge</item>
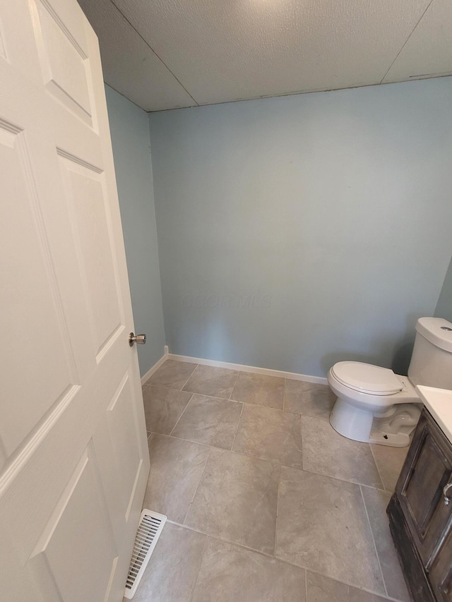
[[(3, 362), (8, 378), (2, 383), (0, 438), (8, 457), (47, 410), (71, 395), (72, 387), (78, 383), (60, 312), (52, 258), (42, 229), (40, 200), (30, 174), (25, 133), (5, 122), (0, 126), (0, 169), (1, 261), (7, 279), (7, 286), (0, 289), (0, 305), (5, 308), (14, 303), (24, 335), (18, 337), (17, 322), (11, 320), (8, 312), (1, 312), (1, 332), (8, 341), (9, 352)], [(34, 315), (36, 306), (41, 308), (39, 320)], [(25, 378), (23, 366), (28, 366)]]

